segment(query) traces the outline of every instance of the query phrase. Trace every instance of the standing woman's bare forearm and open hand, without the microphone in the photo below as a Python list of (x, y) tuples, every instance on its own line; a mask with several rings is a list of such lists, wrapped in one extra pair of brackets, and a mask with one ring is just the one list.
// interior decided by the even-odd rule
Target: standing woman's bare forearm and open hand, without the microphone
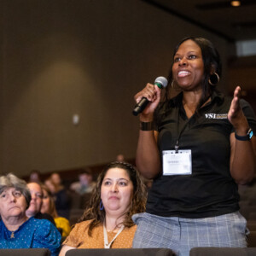
[[(236, 135), (243, 137), (247, 135), (249, 125), (239, 104), (241, 88), (236, 87), (234, 98), (230, 105), (228, 119), (234, 126)], [(241, 141), (236, 139), (235, 133), (230, 135), (230, 173), (236, 183), (245, 184), (253, 179), (256, 169), (256, 137), (251, 141)]]

